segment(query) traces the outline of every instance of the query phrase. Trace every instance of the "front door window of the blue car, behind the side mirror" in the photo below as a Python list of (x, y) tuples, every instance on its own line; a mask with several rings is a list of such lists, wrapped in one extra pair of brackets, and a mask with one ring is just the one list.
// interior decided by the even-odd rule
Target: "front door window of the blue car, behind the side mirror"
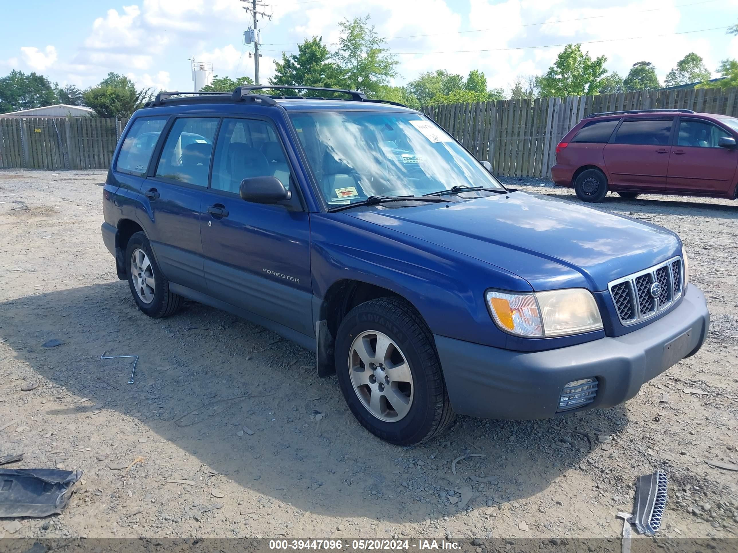
[(261, 119), (224, 119), (210, 188), (238, 194), (244, 178), (273, 176), (289, 189), (289, 165), (277, 131)]

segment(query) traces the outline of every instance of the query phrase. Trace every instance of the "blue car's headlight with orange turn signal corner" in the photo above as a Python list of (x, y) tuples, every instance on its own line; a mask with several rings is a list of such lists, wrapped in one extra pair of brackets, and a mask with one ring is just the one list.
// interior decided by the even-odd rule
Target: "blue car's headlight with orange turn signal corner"
[(489, 290), (485, 296), (492, 319), (506, 333), (542, 338), (602, 328), (594, 296), (584, 288), (531, 293)]

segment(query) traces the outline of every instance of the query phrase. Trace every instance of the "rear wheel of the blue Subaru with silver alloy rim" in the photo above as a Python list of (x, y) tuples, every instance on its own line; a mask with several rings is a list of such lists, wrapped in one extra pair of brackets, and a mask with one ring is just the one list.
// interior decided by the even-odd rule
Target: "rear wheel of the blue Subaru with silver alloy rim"
[(169, 281), (156, 264), (146, 234), (137, 232), (125, 248), (125, 272), (134, 302), (140, 310), (154, 319), (176, 313), (184, 299), (169, 291)]

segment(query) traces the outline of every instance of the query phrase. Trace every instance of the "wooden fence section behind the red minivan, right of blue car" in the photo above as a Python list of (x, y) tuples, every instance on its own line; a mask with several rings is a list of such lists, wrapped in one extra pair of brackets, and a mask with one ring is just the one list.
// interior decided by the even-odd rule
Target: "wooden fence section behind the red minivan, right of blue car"
[(582, 117), (602, 111), (686, 108), (738, 116), (738, 88), (635, 91), (601, 96), (497, 100), (423, 108), (497, 175), (548, 177), (556, 145)]

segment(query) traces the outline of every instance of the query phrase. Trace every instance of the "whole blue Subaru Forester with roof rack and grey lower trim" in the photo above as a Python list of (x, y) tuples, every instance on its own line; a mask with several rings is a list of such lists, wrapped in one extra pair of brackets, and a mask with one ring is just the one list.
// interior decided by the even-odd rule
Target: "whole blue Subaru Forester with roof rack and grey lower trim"
[(191, 299), (275, 330), (396, 444), (455, 413), (614, 406), (705, 341), (673, 232), (503, 187), (402, 105), (263, 88), (161, 93), (128, 122), (103, 240), (148, 316)]

